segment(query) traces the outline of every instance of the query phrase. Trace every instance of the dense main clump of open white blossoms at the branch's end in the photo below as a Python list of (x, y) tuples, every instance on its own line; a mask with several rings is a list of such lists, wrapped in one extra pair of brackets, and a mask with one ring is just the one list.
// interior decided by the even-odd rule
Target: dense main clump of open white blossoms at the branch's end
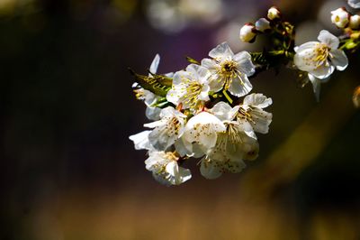
[[(168, 106), (162, 109), (156, 106), (161, 97), (144, 88), (135, 90), (147, 105), (148, 119), (155, 122), (144, 125), (150, 130), (131, 135), (130, 140), (136, 149), (148, 150), (147, 170), (166, 185), (191, 178), (181, 166), (189, 158), (200, 160), (206, 179), (241, 171), (244, 161), (257, 158), (256, 132), (266, 134), (272, 121), (272, 114), (263, 110), (272, 104), (271, 98), (249, 94), (253, 87), (248, 78), (256, 71), (251, 55), (234, 54), (224, 42), (209, 57), (166, 74), (173, 80), (166, 92)], [(157, 55), (150, 74), (157, 72), (158, 63)], [(221, 97), (224, 94), (229, 98)]]

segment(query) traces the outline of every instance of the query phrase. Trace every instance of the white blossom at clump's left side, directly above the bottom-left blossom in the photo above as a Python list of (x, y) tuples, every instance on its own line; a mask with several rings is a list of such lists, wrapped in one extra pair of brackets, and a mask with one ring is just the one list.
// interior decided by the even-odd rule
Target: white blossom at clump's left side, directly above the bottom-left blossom
[(167, 106), (161, 110), (160, 117), (160, 120), (144, 126), (154, 128), (148, 134), (151, 145), (159, 151), (165, 151), (183, 134), (186, 115)]

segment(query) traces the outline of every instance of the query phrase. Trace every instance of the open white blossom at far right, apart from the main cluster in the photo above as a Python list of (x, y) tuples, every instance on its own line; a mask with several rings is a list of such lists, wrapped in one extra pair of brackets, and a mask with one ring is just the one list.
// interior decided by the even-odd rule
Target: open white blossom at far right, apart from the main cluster
[(320, 42), (306, 42), (295, 48), (293, 61), (296, 67), (321, 79), (328, 78), (335, 69), (346, 69), (347, 55), (338, 50), (338, 38), (322, 30), (318, 39)]

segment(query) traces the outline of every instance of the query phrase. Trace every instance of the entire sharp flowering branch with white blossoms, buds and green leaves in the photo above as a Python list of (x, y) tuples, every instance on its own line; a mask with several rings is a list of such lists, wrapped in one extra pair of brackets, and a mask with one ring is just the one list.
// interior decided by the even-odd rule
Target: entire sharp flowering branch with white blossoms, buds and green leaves
[[(349, 5), (360, 8), (359, 1)], [(146, 169), (165, 185), (179, 185), (191, 179), (184, 163), (197, 159), (206, 179), (219, 178), (225, 172), (242, 171), (246, 161), (257, 159), (257, 133), (267, 134), (273, 115), (264, 110), (272, 99), (252, 93), (250, 79), (256, 73), (285, 65), (295, 69), (304, 82), (311, 82), (317, 99), (320, 84), (337, 69), (347, 69), (346, 51), (360, 47), (360, 17), (338, 8), (329, 20), (343, 29), (337, 37), (320, 31), (318, 41), (295, 45), (295, 31), (284, 22), (281, 12), (271, 7), (266, 17), (245, 24), (239, 31), (243, 42), (255, 42), (258, 34), (273, 41), (263, 52), (231, 51), (223, 42), (201, 61), (188, 58), (185, 68), (157, 74), (160, 57), (150, 65), (148, 76), (131, 73), (136, 97), (147, 106), (148, 128), (130, 136), (137, 150), (147, 150)], [(359, 90), (356, 90), (358, 101)], [(357, 100), (356, 100), (357, 99)]]

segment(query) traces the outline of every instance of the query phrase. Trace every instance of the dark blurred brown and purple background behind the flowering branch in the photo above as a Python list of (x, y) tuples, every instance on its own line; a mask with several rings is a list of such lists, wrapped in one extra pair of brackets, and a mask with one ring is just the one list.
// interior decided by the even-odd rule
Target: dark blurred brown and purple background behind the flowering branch
[[(272, 97), (260, 156), (239, 174), (166, 188), (128, 139), (148, 123), (128, 67), (201, 60), (277, 5), (297, 43), (347, 1), (0, 0), (0, 239), (360, 239), (359, 54), (317, 103), (282, 69), (252, 80)], [(259, 39), (259, 42), (262, 40)]]

